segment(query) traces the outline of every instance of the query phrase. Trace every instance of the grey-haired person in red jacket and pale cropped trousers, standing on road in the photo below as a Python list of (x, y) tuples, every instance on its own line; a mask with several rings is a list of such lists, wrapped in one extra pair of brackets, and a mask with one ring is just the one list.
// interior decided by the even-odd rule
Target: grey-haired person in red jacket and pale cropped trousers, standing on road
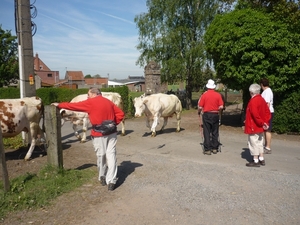
[(251, 84), (249, 87), (251, 99), (246, 109), (244, 132), (248, 134), (248, 145), (253, 161), (246, 163), (249, 167), (266, 165), (264, 160), (264, 131), (269, 128), (271, 113), (266, 101), (260, 95), (260, 85)]

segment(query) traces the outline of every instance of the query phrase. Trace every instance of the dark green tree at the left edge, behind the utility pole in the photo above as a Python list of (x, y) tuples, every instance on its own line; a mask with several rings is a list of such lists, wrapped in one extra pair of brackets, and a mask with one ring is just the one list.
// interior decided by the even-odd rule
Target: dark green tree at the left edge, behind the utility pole
[(0, 25), (0, 87), (19, 79), (17, 37)]

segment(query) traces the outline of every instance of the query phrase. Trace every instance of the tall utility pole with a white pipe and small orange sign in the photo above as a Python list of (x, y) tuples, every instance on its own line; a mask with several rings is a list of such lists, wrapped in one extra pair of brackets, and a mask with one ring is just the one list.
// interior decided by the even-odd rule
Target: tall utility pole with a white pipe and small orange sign
[(30, 0), (17, 0), (16, 24), (19, 52), (20, 97), (36, 95)]

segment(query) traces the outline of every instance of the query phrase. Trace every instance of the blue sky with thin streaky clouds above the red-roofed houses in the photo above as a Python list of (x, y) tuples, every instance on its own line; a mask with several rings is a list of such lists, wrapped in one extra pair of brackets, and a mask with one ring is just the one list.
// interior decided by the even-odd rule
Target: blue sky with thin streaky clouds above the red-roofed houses
[[(15, 35), (14, 0), (0, 0), (2, 29)], [(64, 78), (66, 70), (110, 79), (143, 76), (134, 17), (146, 0), (31, 0), (37, 9), (33, 53)]]

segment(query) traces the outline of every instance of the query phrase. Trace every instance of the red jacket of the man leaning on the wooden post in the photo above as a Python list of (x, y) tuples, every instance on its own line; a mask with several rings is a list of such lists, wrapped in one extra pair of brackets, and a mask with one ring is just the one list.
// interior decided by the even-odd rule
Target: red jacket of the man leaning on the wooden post
[[(124, 112), (112, 101), (101, 95), (88, 98), (82, 102), (62, 102), (58, 104), (58, 107), (88, 113), (92, 125), (99, 125), (103, 120), (114, 120), (116, 124), (119, 124), (124, 118)], [(93, 129), (91, 130), (91, 135), (94, 137), (103, 136), (102, 133)]]

